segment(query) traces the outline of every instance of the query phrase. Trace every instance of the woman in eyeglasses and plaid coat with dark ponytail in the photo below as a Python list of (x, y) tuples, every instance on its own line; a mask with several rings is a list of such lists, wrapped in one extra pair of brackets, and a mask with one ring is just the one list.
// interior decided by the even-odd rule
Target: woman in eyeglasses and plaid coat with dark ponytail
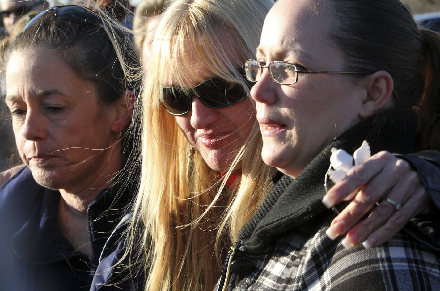
[[(321, 203), (328, 175), (348, 160), (341, 149), (363, 145), (356, 160), (364, 141), (372, 153), (439, 149), (439, 54), (439, 35), (419, 30), (398, 0), (277, 1), (245, 69), (262, 158), (285, 175), (240, 230), (220, 290), (440, 288), (439, 245), (416, 228), (438, 230), (438, 209), (382, 245), (353, 246), (329, 237), (335, 213)], [(413, 203), (413, 193), (390, 192), (375, 211)]]

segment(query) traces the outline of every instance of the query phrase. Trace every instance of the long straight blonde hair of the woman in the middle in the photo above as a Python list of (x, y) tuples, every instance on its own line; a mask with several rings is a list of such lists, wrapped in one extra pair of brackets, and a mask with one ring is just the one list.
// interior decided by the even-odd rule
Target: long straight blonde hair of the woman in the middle
[(145, 267), (145, 290), (212, 289), (225, 255), (220, 250), (237, 240), (271, 189), (274, 170), (260, 158), (256, 121), (231, 166), (241, 163), (240, 183), (228, 189), (231, 171), (222, 180), (197, 151), (191, 154), (190, 143), (160, 100), (165, 78), (172, 76), (173, 86), (184, 87), (186, 76), (197, 77), (191, 70), (194, 58), (248, 90), (235, 69), (254, 58), (273, 3), (176, 0), (161, 16), (135, 117), (142, 131), (142, 166), (127, 244), (130, 260)]

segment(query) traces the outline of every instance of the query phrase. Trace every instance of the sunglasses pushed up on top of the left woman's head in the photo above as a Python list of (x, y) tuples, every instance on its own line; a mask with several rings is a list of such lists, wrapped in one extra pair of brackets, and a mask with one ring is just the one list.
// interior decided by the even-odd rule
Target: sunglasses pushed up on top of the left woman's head
[(57, 18), (68, 21), (74, 21), (84, 24), (100, 24), (106, 26), (102, 18), (99, 17), (99, 15), (97, 15), (92, 10), (88, 9), (87, 7), (79, 6), (79, 5), (65, 5), (65, 6), (51, 7), (48, 10), (41, 12), (40, 14), (32, 18), (32, 20), (29, 21), (28, 24), (26, 24), (23, 31), (28, 29), (30, 26), (34, 25), (41, 16), (46, 15), (48, 13), (52, 14)]

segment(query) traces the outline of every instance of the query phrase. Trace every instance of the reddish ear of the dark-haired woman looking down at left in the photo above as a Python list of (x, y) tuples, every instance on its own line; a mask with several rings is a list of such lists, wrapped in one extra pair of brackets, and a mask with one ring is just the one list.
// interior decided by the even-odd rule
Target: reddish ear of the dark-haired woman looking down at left
[(130, 90), (124, 91), (122, 97), (114, 104), (115, 116), (111, 125), (113, 132), (119, 132), (130, 124), (135, 107), (136, 96)]

